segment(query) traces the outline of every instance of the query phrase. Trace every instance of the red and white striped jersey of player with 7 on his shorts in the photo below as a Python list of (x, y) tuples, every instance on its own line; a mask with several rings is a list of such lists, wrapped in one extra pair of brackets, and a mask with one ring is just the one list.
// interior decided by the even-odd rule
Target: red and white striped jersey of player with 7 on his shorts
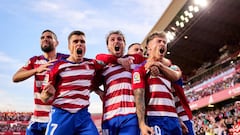
[(102, 65), (92, 59), (81, 63), (57, 62), (49, 72), (49, 81), (56, 89), (52, 105), (71, 113), (88, 107), (92, 80), (96, 70), (101, 68)]

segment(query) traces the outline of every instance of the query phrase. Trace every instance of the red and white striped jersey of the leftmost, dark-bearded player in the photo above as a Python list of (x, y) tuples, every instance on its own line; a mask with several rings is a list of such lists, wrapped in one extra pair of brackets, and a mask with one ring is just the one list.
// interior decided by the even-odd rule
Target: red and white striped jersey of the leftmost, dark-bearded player
[[(68, 55), (57, 53), (57, 59), (67, 58)], [(28, 63), (23, 66), (26, 70), (31, 70), (39, 67), (40, 65), (46, 64), (48, 60), (43, 56), (34, 56), (29, 59)], [(36, 122), (48, 122), (49, 112), (51, 109), (50, 104), (43, 103), (40, 99), (41, 86), (44, 80), (46, 72), (37, 73), (34, 76), (34, 113), (31, 121)]]

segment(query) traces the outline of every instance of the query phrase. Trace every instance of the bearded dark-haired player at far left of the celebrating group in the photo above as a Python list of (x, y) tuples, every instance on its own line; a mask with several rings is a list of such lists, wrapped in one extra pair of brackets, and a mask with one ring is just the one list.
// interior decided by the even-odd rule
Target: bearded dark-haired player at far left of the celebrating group
[(27, 64), (21, 67), (14, 75), (13, 82), (24, 81), (34, 76), (34, 113), (26, 130), (27, 135), (44, 135), (49, 121), (51, 104), (40, 100), (40, 92), (45, 73), (56, 59), (66, 58), (68, 55), (56, 53), (58, 46), (57, 36), (51, 30), (44, 30), (40, 37), (42, 55), (33, 56)]

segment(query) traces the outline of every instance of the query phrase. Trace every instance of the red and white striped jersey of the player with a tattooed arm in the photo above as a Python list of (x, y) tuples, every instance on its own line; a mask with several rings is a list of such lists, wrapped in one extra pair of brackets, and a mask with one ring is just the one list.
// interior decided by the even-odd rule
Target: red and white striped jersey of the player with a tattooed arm
[(146, 115), (178, 117), (171, 82), (162, 74), (151, 76), (144, 65), (133, 72), (132, 87), (145, 89)]

